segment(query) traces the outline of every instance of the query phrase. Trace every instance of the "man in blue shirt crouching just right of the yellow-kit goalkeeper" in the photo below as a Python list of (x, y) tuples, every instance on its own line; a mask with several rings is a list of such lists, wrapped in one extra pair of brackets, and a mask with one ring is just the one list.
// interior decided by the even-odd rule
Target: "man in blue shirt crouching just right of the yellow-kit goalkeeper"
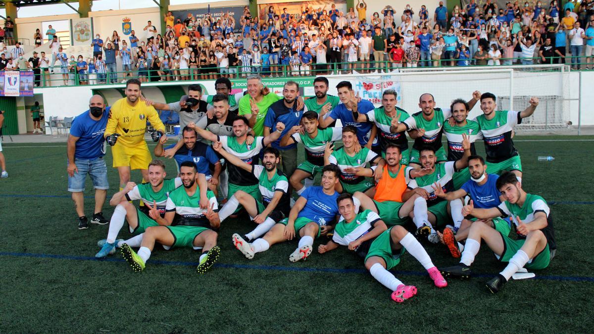
[[(182, 129), (182, 139), (184, 140), (184, 146), (180, 147), (175, 152), (175, 155), (173, 155), (173, 159), (175, 159), (178, 169), (182, 165), (182, 162), (193, 162), (194, 165), (196, 165), (196, 171), (206, 175), (208, 189), (218, 196), (217, 185), (219, 185), (219, 175), (222, 171), (219, 156), (214, 153), (212, 147), (201, 141), (197, 141), (196, 131), (192, 128), (186, 126)], [(163, 144), (159, 141), (154, 148), (154, 156), (165, 156), (165, 150), (172, 149), (175, 146), (176, 144), (171, 144), (168, 147), (163, 148)], [(213, 172), (211, 172), (211, 168), (213, 169)]]

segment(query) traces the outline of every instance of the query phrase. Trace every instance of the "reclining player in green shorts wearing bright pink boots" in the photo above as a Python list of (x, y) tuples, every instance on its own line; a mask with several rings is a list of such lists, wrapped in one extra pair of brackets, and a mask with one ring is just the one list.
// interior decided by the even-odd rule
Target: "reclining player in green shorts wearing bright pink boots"
[(435, 286), (447, 286), (425, 248), (405, 228), (396, 225), (387, 229), (386, 223), (371, 210), (357, 214), (350, 194), (340, 195), (336, 202), (342, 220), (336, 224), (332, 240), (318, 247), (319, 253), (334, 250), (339, 245), (348, 246), (349, 250), (365, 258), (365, 268), (377, 281), (393, 291), (392, 300), (398, 303), (416, 295), (415, 286), (404, 285), (388, 272), (400, 263), (405, 249), (425, 267)]

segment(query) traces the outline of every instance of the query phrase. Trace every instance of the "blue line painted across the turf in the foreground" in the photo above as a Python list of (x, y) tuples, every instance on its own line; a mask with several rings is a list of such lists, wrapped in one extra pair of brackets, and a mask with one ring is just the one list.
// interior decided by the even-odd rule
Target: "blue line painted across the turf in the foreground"
[[(107, 261), (107, 262), (125, 262), (124, 259), (117, 259), (115, 257), (106, 257), (104, 259), (97, 259), (90, 256), (74, 256), (74, 255), (59, 255), (59, 254), (37, 254), (37, 253), (13, 253), (0, 252), (0, 256), (13, 257), (37, 257), (42, 259), (59, 259), (59, 260), (83, 260), (83, 261)], [(198, 262), (188, 261), (165, 261), (165, 260), (151, 260), (154, 264), (165, 264), (167, 266), (198, 266)], [(251, 264), (229, 264), (217, 263), (214, 267), (225, 269), (256, 269), (256, 270), (277, 270), (282, 272), (317, 272), (317, 273), (367, 273), (365, 269), (340, 269), (340, 268), (304, 268), (304, 267), (285, 267), (285, 266), (258, 266)], [(427, 276), (426, 272), (415, 272), (410, 270), (394, 270), (396, 275), (407, 276)], [(481, 278), (491, 278), (495, 274), (475, 274), (473, 276)], [(567, 281), (567, 282), (594, 282), (594, 277), (582, 276), (549, 276), (537, 275), (535, 279), (543, 279), (546, 281)]]

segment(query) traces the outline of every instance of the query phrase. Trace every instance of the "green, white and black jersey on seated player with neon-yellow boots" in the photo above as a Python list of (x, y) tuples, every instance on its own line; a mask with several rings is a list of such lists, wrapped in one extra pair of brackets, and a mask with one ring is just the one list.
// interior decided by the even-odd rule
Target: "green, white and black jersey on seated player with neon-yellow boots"
[[(213, 211), (219, 210), (217, 198), (210, 190), (206, 192), (208, 197), (208, 205), (212, 206)], [(179, 187), (169, 194), (167, 200), (166, 212), (175, 211), (175, 220), (173, 225), (187, 225), (187, 226), (202, 226), (210, 228), (210, 222), (204, 215), (207, 209), (200, 208), (200, 188), (196, 187), (196, 192), (192, 196), (188, 196), (185, 187)]]

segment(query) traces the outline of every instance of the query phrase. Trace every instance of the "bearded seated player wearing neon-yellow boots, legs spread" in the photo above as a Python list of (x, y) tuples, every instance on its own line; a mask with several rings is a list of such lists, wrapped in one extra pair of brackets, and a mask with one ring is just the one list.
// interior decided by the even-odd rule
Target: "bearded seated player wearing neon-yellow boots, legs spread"
[[(122, 244), (122, 256), (128, 261), (132, 270), (144, 270), (155, 242), (159, 242), (166, 250), (172, 247), (193, 247), (202, 249), (198, 273), (205, 273), (219, 258), (220, 248), (217, 244), (217, 229), (220, 226), (216, 197), (207, 191), (207, 209), (200, 207), (200, 190), (198, 189), (196, 166), (191, 161), (182, 162), (179, 177), (184, 187), (179, 187), (169, 194), (162, 218), (156, 206), (149, 206), (149, 215), (159, 226), (151, 226), (142, 234), (138, 254), (128, 244)], [(174, 222), (174, 218), (177, 218)], [(173, 226), (172, 226), (173, 225)]]

